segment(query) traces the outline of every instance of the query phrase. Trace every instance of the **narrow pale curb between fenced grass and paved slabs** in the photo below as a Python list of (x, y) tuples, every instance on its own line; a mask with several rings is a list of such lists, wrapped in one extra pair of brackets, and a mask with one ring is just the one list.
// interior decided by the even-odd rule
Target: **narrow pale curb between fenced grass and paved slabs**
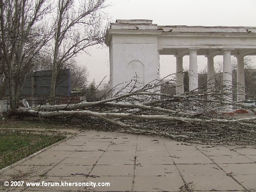
[(72, 134), (72, 135), (70, 135), (69, 137), (67, 137), (67, 138), (64, 139), (64, 140), (61, 140), (61, 141), (59, 141), (59, 142), (57, 142), (57, 143), (53, 143), (52, 145), (50, 145), (50, 146), (48, 146), (48, 147), (46, 147), (46, 148), (43, 148), (43, 149), (41, 149), (40, 151), (35, 152), (34, 154), (29, 155), (29, 157), (25, 157), (24, 159), (19, 160), (19, 161), (13, 163), (12, 165), (9, 165), (9, 166), (7, 166), (7, 167), (1, 169), (1, 170), (0, 170), (0, 174), (6, 172), (6, 171), (9, 170), (9, 169), (12, 169), (12, 168), (18, 166), (19, 164), (25, 162), (26, 160), (29, 160), (30, 158), (34, 157), (35, 155), (40, 154), (40, 153), (46, 151), (47, 149), (52, 148), (52, 147), (54, 147), (55, 145), (58, 145), (59, 143), (62, 143), (62, 142), (65, 141), (65, 140), (70, 139), (71, 137), (76, 136), (77, 134), (79, 134), (79, 133), (81, 133), (81, 132), (83, 132), (83, 131), (79, 131), (79, 132), (77, 132), (77, 133), (75, 133), (75, 134)]

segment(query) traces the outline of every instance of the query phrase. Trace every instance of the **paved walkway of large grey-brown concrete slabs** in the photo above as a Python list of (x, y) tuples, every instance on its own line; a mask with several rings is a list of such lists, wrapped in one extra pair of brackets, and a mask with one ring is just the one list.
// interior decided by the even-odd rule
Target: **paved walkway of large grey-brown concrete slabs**
[(85, 131), (0, 174), (0, 181), (12, 180), (110, 186), (1, 186), (0, 190), (177, 192), (188, 186), (193, 191), (256, 191), (256, 149)]

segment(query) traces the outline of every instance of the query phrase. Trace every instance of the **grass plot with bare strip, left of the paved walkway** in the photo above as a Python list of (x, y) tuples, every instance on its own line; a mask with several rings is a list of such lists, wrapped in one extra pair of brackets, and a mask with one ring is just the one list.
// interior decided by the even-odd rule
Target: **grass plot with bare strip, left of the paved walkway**
[[(41, 131), (58, 131), (63, 128), (72, 127), (62, 119), (0, 118), (0, 169), (63, 140), (65, 137), (61, 135), (50, 137), (50, 132), (47, 132), (48, 136), (40, 135)], [(15, 153), (12, 153), (13, 151)]]

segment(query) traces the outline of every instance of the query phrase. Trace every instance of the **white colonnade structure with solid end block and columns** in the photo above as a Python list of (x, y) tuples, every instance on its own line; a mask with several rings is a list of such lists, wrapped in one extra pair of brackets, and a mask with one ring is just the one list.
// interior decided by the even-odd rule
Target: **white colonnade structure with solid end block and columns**
[[(189, 90), (198, 87), (197, 55), (208, 58), (208, 88), (214, 86), (213, 58), (223, 55), (224, 85), (232, 86), (231, 55), (237, 57), (237, 82), (244, 85), (244, 56), (256, 55), (256, 27), (158, 26), (152, 20), (116, 20), (107, 30), (110, 86), (139, 76), (143, 84), (159, 79), (159, 55), (176, 57), (176, 93), (184, 92), (183, 56), (189, 55)], [(244, 99), (240, 89), (239, 100)]]

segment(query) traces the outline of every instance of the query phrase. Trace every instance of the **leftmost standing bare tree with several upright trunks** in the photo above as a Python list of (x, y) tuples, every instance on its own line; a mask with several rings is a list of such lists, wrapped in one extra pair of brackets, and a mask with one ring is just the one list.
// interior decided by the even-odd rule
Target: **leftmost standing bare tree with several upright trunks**
[(18, 107), (35, 55), (49, 41), (47, 25), (42, 22), (49, 10), (47, 0), (0, 0), (0, 64), (8, 79), (11, 109)]

